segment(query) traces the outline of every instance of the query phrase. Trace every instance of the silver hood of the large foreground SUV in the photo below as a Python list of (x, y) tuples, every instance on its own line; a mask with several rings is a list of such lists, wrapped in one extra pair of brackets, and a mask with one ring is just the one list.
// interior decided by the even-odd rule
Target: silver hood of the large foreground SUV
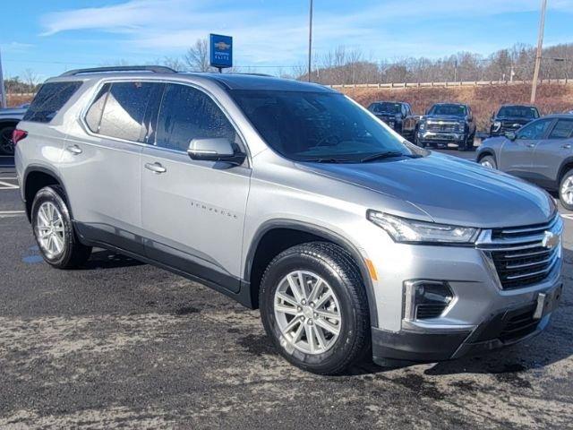
[[(498, 228), (546, 222), (551, 197), (497, 170), (432, 152), (420, 159), (387, 159), (362, 164), (304, 163), (315, 173), (381, 193), (372, 208), (384, 211), (385, 195), (413, 204), (435, 222)], [(376, 207), (380, 204), (379, 207)]]

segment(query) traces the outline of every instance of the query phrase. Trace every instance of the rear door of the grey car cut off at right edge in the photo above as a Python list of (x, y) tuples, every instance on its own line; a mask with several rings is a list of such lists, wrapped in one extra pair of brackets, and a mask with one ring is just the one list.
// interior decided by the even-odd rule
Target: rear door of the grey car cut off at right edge
[(561, 162), (573, 153), (573, 117), (558, 118), (545, 139), (535, 146), (532, 172), (537, 184), (552, 188), (556, 185)]

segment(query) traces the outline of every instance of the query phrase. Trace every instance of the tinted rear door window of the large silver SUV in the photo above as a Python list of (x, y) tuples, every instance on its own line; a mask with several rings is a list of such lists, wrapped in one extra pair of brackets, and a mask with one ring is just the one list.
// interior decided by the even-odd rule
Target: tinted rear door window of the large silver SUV
[(143, 118), (151, 99), (152, 82), (114, 82), (107, 96), (99, 125), (99, 133), (106, 136), (143, 142), (146, 130)]

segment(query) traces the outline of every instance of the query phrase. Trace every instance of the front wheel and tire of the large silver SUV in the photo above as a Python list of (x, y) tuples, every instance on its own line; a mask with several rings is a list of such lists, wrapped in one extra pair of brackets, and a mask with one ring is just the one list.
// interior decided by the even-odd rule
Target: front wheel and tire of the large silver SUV
[[(295, 298), (292, 284), (287, 279), (291, 276), (295, 286), (300, 286), (301, 274), (303, 283), (310, 283), (309, 291), (303, 293), (308, 299), (306, 302), (304, 298)], [(316, 286), (317, 278), (321, 280), (321, 293), (312, 298), (312, 286)], [(312, 280), (315, 280), (314, 284)], [(329, 290), (331, 296), (327, 294)], [(298, 291), (302, 293), (302, 290)], [(278, 293), (290, 297), (289, 301), (282, 301)], [(370, 314), (363, 280), (350, 254), (337, 245), (312, 242), (278, 254), (263, 274), (259, 295), (261, 319), (267, 335), (280, 354), (301, 369), (315, 374), (341, 374), (360, 361), (370, 348)], [(330, 298), (321, 304), (324, 297)], [(280, 312), (285, 307), (291, 314)], [(338, 322), (324, 317), (325, 313), (338, 313)], [(284, 334), (291, 324), (300, 332), (300, 339), (295, 342), (289, 334)], [(325, 324), (329, 330), (323, 328)], [(338, 334), (332, 327), (338, 329)], [(312, 342), (307, 335), (309, 331)], [(314, 352), (309, 351), (312, 343), (316, 347)]]

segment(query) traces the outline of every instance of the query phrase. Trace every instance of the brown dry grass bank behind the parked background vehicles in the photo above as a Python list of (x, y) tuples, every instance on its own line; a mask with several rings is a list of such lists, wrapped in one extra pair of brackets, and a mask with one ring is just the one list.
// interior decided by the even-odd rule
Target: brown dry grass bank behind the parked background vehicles
[[(479, 130), (488, 126), (492, 112), (506, 103), (529, 103), (531, 86), (492, 85), (483, 87), (450, 87), (450, 88), (344, 88), (345, 94), (363, 106), (375, 100), (400, 100), (410, 103), (416, 114), (423, 114), (433, 103), (440, 101), (458, 101), (467, 103), (474, 110)], [(573, 85), (543, 84), (537, 88), (537, 101), (542, 115), (563, 112), (573, 108)]]

